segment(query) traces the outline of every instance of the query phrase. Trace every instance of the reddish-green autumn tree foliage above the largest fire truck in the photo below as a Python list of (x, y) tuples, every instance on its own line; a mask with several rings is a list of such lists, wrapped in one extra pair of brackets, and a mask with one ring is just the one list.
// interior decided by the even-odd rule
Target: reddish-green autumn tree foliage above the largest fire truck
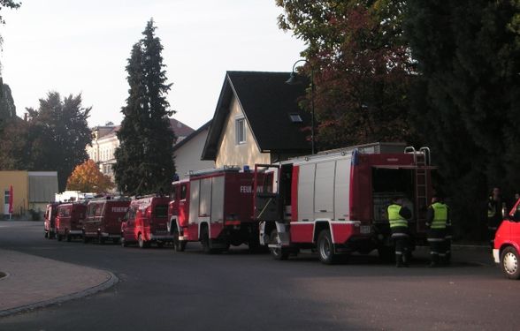
[[(403, 1), (278, 0), (279, 26), (306, 42), (323, 149), (409, 140), (414, 66), (402, 36)], [(309, 109), (311, 90), (303, 106)]]

